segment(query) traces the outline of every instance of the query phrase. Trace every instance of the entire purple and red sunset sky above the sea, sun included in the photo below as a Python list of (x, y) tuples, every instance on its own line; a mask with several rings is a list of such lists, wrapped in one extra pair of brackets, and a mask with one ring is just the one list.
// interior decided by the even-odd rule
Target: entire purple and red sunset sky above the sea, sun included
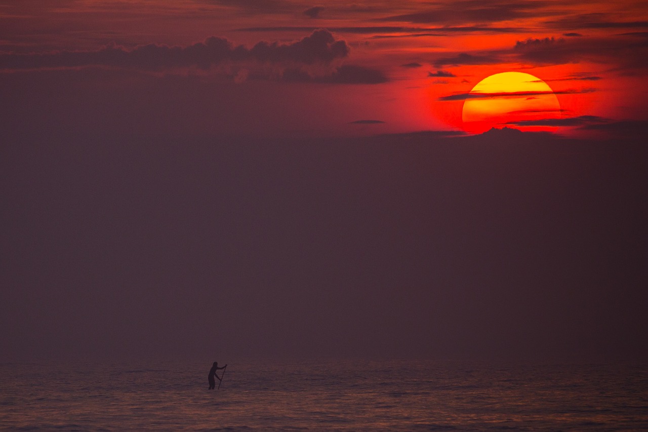
[(0, 361), (646, 359), (646, 59), (642, 1), (0, 1)]

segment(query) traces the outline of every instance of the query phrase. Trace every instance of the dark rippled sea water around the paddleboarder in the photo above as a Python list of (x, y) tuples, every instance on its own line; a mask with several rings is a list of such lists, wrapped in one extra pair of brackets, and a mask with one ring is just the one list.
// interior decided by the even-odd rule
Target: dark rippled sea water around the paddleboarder
[(648, 430), (646, 365), (230, 363), (207, 390), (210, 367), (3, 364), (0, 428)]

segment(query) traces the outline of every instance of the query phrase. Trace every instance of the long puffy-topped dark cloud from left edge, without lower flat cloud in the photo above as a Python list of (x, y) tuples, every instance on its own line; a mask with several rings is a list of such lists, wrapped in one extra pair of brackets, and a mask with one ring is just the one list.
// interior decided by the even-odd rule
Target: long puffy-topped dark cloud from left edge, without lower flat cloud
[(235, 46), (224, 38), (211, 37), (188, 47), (141, 45), (132, 50), (111, 45), (97, 51), (60, 51), (47, 54), (1, 54), (0, 69), (40, 69), (52, 67), (108, 66), (144, 70), (178, 67), (209, 67), (223, 62), (249, 60), (269, 63), (330, 64), (349, 54), (343, 40), (328, 30), (315, 30), (305, 38), (288, 44), (259, 42), (251, 49)]

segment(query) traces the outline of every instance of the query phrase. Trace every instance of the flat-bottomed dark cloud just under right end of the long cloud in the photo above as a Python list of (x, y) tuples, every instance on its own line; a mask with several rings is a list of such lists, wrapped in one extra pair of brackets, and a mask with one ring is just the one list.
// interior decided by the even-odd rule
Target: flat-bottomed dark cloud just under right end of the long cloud
[(364, 66), (343, 65), (326, 75), (312, 75), (303, 69), (290, 68), (283, 73), (286, 82), (317, 84), (383, 84), (389, 79), (377, 69)]

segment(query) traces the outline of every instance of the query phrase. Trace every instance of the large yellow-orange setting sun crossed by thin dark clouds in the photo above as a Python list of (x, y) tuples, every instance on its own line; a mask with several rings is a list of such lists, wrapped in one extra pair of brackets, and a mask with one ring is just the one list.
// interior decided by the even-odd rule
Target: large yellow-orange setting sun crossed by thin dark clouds
[(529, 73), (502, 72), (477, 83), (463, 102), (463, 129), (481, 134), (491, 128), (553, 130), (544, 119), (561, 117), (561, 104), (551, 87)]

